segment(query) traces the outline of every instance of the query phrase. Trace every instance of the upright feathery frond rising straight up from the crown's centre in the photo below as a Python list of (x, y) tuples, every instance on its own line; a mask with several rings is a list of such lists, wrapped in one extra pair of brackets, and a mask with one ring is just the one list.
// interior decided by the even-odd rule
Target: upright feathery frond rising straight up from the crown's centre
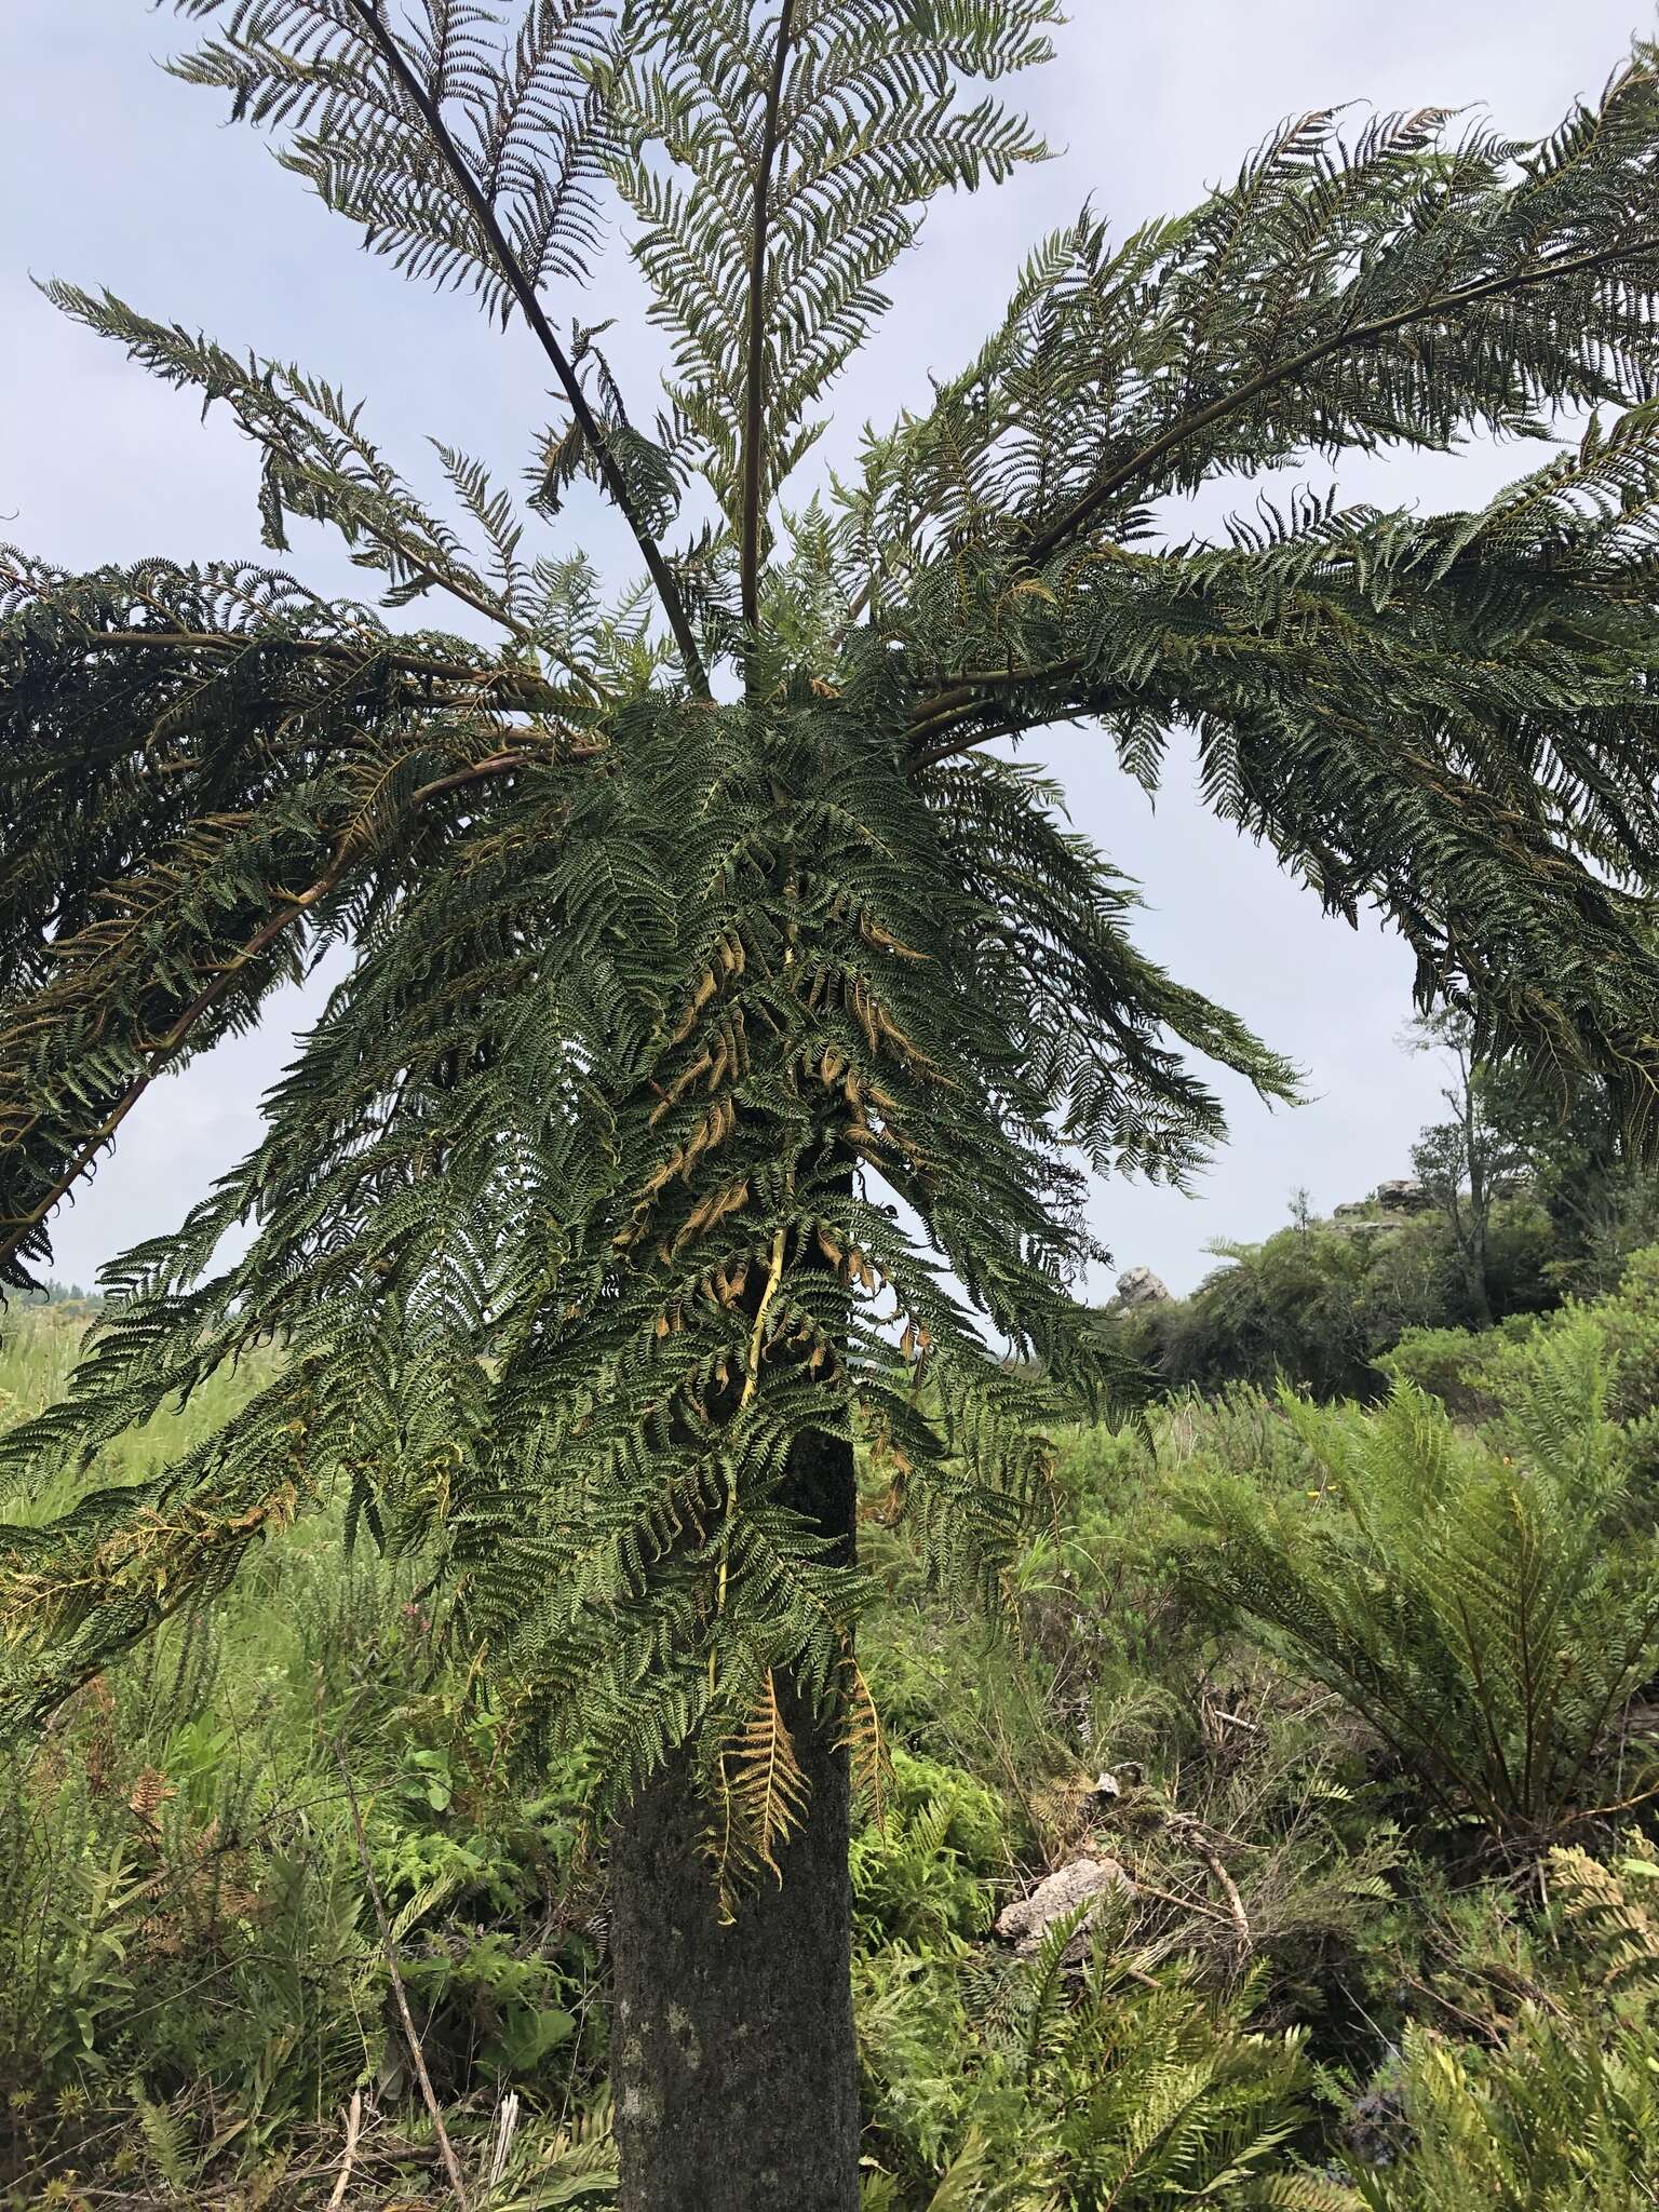
[(628, 13), (630, 66), (602, 80), (626, 148), (613, 177), (675, 345), (675, 405), (741, 531), (759, 385), (763, 515), (821, 429), (805, 418), (887, 307), (878, 285), (927, 201), (1042, 157), (1022, 117), (969, 102), (964, 82), (1048, 60), (1057, 9), (659, 0)]

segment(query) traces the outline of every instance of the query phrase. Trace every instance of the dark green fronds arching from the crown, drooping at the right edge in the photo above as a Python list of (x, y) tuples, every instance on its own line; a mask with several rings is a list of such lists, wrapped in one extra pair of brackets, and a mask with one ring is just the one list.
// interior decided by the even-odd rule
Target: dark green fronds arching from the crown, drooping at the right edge
[(1214, 812), (1329, 911), (1374, 902), (1425, 1002), (1478, 1006), (1559, 1095), (1606, 1079), (1646, 1139), (1657, 498), (1639, 407), (1473, 515), (1298, 502), (1228, 546), (1102, 546), (1004, 595), (958, 560), (909, 597), (920, 639), (975, 639), (922, 679), (918, 757), (1068, 712), (1155, 781), (1186, 723)]

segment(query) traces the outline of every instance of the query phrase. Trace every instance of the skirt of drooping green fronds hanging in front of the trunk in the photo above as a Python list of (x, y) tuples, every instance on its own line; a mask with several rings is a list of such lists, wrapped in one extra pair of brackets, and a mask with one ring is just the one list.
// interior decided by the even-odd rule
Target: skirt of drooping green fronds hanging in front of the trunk
[[(1044, 1413), (1124, 1378), (1066, 1290), (1088, 1237), (1051, 1121), (1077, 1066), (1020, 1044), (1018, 876), (987, 841), (964, 878), (902, 745), (810, 690), (787, 719), (639, 699), (608, 723), (591, 761), (491, 781), (422, 849), (259, 1150), (122, 1267), (73, 1409), (15, 1431), (11, 1467), (95, 1460), (279, 1336), (312, 1486), (425, 1551), (449, 1632), (624, 1790), (695, 1732), (745, 1741), (765, 1668), (858, 1708), (867, 1586), (796, 1489), (812, 1438), (872, 1433), (936, 1571), (995, 1608), (1046, 1493)], [(1042, 852), (1040, 794), (1013, 779), (1000, 805), (1004, 845), (1024, 810)], [(1179, 1164), (1201, 1095), (1082, 852), (1073, 872), (1048, 927), (1079, 933), (1077, 989), (1124, 993), (1086, 1141)], [(104, 1495), (88, 1542), (124, 1557), (144, 1515), (210, 1517), (226, 1482), (204, 1460)], [(84, 1571), (29, 1575), (20, 1710), (53, 1624), (80, 1663), (133, 1626)]]

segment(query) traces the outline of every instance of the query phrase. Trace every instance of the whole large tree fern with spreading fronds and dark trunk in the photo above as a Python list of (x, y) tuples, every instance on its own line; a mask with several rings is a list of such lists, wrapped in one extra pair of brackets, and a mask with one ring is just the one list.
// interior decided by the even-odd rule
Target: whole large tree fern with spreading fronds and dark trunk
[[(1055, 0), (184, 7), (181, 75), (376, 252), (522, 323), (555, 535), (451, 445), (429, 507), (323, 378), (51, 288), (230, 407), (274, 555), (334, 524), (383, 606), (495, 644), (263, 564), (7, 555), (9, 1281), (161, 1071), (352, 962), (254, 1152), (111, 1272), (4, 1462), (91, 1467), (246, 1347), (288, 1356), (153, 1480), (0, 1528), (2, 1703), (35, 1721), (341, 1495), (347, 1537), (425, 1557), (520, 1750), (582, 1743), (617, 1820), (626, 2212), (852, 2212), (854, 1436), (995, 1606), (1042, 1420), (1115, 1387), (1068, 1294), (1086, 1175), (1179, 1179), (1219, 1137), (1183, 1048), (1290, 1088), (1133, 949), (1130, 887), (998, 745), (1079, 723), (1152, 787), (1194, 732), (1208, 803), (1327, 911), (1391, 916), (1425, 1006), (1648, 1128), (1659, 53), (1537, 146), (1318, 113), (1175, 221), (1115, 246), (1084, 212), (967, 369), (801, 495), (927, 201), (1040, 157), (987, 80), (1048, 55)], [(655, 416), (549, 305), (617, 201)], [(1212, 480), (1597, 407), (1628, 411), (1473, 513), (1298, 493), (1155, 535)], [(568, 542), (580, 480), (637, 549), (615, 597)]]

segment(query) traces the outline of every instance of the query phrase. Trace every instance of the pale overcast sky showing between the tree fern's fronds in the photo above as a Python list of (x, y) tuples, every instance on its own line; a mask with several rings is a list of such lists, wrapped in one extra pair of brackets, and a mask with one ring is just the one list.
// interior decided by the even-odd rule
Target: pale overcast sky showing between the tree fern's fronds
[[(1283, 115), (1345, 100), (1484, 104), (1502, 131), (1537, 135), (1577, 93), (1599, 91), (1632, 24), (1648, 22), (1639, 0), (1073, 0), (1060, 66), (1026, 80), (1057, 159), (936, 210), (898, 270), (896, 312), (838, 387), (830, 456), (847, 453), (860, 420), (925, 396), (927, 369), (967, 358), (1024, 250), (1084, 199), (1124, 230), (1186, 208)], [(148, 314), (367, 394), (374, 434), (418, 482), (429, 480), (427, 434), (515, 473), (551, 414), (524, 330), (489, 330), (467, 299), (434, 296), (365, 257), (250, 131), (223, 126), (215, 95), (155, 66), (186, 40), (188, 27), (146, 0), (0, 0), (0, 535), (66, 566), (259, 555), (254, 458), (228, 416), (204, 425), (192, 398), (53, 314), (31, 274), (108, 283)], [(637, 307), (626, 276), (606, 279), (602, 301)], [(593, 303), (553, 310), (591, 319)], [(608, 343), (637, 358), (637, 325)], [(1469, 507), (1537, 458), (1407, 456), (1347, 467), (1340, 484), (1387, 504)], [(1329, 469), (1316, 462), (1307, 482), (1325, 489)], [(568, 522), (615, 546), (604, 518), (573, 509)], [(292, 566), (365, 588), (314, 531)], [(1141, 945), (1307, 1071), (1310, 1104), (1290, 1113), (1225, 1086), (1232, 1141), (1194, 1199), (1124, 1183), (1099, 1192), (1095, 1219), (1117, 1265), (1148, 1263), (1188, 1290), (1212, 1265), (1210, 1239), (1267, 1234), (1296, 1186), (1329, 1210), (1407, 1170), (1438, 1104), (1433, 1064), (1398, 1046), (1411, 962), (1371, 922), (1323, 920), (1270, 854), (1199, 810), (1179, 759), (1152, 812), (1095, 734), (1057, 734), (1042, 754), (1075, 825), (1144, 885)], [(170, 1225), (246, 1148), (305, 1018), (307, 1000), (290, 993), (259, 1035), (150, 1091), (97, 1181), (58, 1214), (62, 1279), (91, 1281), (126, 1243)], [(1097, 1290), (1108, 1287), (1102, 1276)]]

